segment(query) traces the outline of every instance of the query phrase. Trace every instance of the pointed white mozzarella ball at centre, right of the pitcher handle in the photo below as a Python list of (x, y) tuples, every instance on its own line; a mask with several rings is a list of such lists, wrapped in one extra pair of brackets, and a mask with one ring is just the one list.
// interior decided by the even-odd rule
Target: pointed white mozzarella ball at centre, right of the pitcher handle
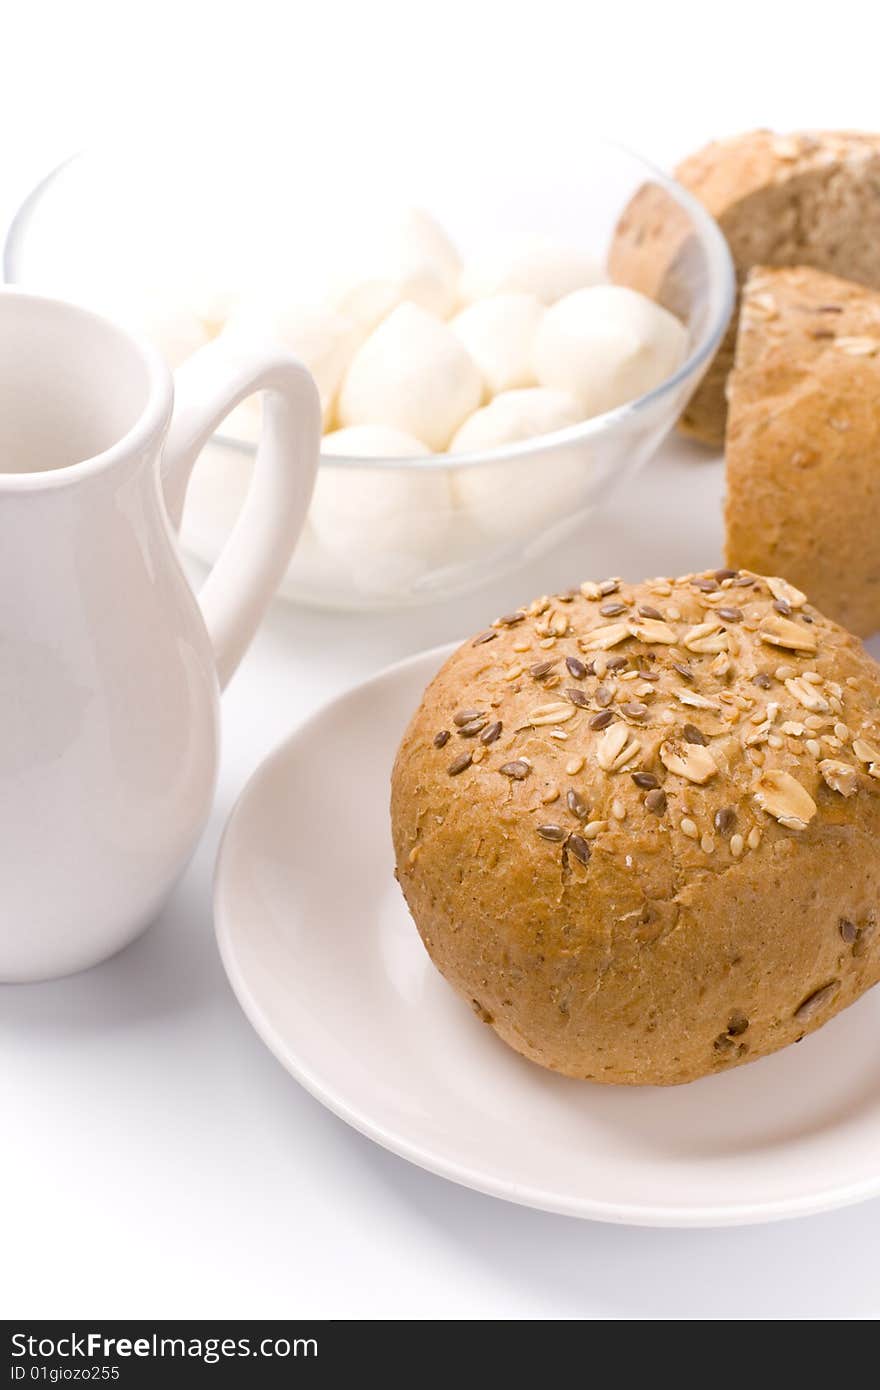
[(392, 425), (442, 452), (482, 399), (482, 378), (448, 324), (399, 304), (359, 348), (342, 384), (342, 425)]

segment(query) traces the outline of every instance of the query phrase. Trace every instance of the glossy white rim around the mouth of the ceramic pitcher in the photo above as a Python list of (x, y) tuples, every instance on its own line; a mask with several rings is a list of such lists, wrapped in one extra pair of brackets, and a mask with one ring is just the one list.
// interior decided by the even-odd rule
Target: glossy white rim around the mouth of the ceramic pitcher
[(78, 459), (75, 463), (64, 464), (60, 468), (35, 468), (31, 473), (4, 473), (0, 467), (0, 492), (35, 492), (46, 488), (63, 488), (85, 478), (96, 477), (110, 471), (125, 457), (145, 452), (150, 443), (161, 439), (171, 420), (174, 406), (174, 378), (158, 348), (154, 348), (146, 338), (131, 332), (108, 314), (99, 314), (85, 304), (76, 304), (70, 299), (57, 295), (38, 295), (32, 291), (18, 289), (14, 285), (0, 285), (0, 302), (3, 299), (26, 300), (29, 303), (50, 304), (79, 318), (90, 320), (111, 328), (125, 338), (139, 354), (147, 375), (147, 395), (140, 414), (133, 424), (120, 435), (107, 449), (90, 455), (88, 459)]

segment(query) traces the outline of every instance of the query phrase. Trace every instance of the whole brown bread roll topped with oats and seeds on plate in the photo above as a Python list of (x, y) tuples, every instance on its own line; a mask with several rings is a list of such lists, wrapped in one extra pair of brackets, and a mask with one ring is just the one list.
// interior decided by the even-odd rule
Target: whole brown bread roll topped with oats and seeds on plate
[(880, 977), (880, 667), (781, 580), (584, 584), (428, 687), (392, 776), (431, 959), (567, 1076), (674, 1084)]

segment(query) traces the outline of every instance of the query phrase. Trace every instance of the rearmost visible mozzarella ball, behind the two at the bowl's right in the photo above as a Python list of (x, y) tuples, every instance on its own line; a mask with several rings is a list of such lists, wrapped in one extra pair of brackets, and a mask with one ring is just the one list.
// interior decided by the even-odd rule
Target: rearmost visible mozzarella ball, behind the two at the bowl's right
[(602, 279), (605, 271), (591, 252), (532, 238), (519, 246), (496, 247), (466, 265), (459, 281), (459, 299), (470, 304), (489, 295), (520, 289), (542, 304), (555, 304), (563, 295), (598, 285)]

